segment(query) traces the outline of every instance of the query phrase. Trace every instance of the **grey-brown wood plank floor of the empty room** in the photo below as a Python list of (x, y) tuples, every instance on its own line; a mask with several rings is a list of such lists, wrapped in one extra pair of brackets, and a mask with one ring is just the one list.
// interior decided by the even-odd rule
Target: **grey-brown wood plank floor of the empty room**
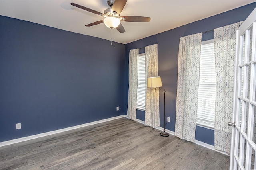
[(116, 119), (0, 147), (0, 170), (227, 170), (229, 156)]

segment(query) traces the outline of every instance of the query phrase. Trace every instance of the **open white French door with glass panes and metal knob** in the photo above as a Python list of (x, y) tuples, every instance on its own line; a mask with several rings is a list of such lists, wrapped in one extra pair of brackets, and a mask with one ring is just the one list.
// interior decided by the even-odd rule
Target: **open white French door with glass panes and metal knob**
[(256, 169), (256, 8), (236, 31), (230, 170)]

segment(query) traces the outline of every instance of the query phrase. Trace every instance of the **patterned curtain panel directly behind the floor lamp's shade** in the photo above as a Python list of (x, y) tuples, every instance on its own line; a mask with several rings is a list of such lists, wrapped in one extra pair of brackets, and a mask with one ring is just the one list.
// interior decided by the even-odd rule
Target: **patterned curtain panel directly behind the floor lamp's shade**
[(146, 108), (145, 126), (160, 127), (159, 90), (147, 88), (148, 77), (158, 76), (157, 44), (145, 47), (146, 54)]

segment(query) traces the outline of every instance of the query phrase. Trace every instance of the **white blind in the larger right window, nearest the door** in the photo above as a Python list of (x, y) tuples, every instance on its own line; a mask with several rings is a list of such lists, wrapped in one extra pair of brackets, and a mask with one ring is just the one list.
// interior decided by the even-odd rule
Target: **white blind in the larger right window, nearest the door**
[(214, 128), (215, 96), (214, 40), (202, 41), (196, 124)]

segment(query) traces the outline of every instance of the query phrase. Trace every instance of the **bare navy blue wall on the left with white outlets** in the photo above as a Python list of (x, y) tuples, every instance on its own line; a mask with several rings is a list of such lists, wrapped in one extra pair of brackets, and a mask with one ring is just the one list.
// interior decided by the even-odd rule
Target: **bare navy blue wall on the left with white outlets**
[(124, 44), (0, 16), (0, 142), (123, 115), (124, 63)]

